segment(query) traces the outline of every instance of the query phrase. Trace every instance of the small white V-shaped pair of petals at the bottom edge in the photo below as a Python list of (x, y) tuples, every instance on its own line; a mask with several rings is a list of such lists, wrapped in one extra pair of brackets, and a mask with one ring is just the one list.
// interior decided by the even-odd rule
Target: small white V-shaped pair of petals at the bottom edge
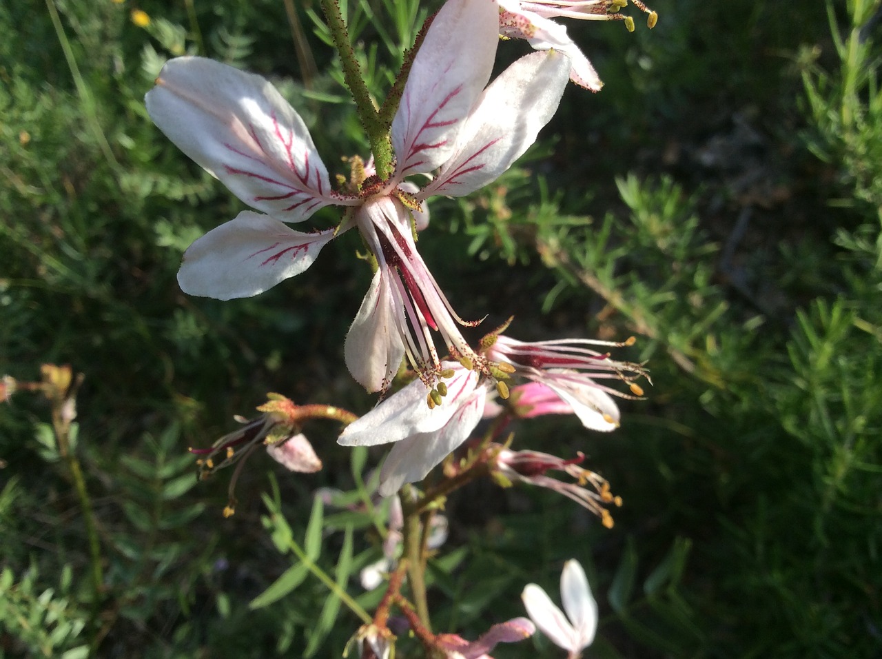
[[(560, 648), (570, 654), (568, 659), (578, 659), (583, 649), (594, 642), (597, 631), (597, 603), (588, 588), (585, 571), (577, 560), (568, 560), (560, 575), (560, 598), (564, 612), (557, 608), (541, 587), (527, 584), (520, 598), (527, 608), (527, 614)], [(569, 618), (569, 620), (567, 620)]]

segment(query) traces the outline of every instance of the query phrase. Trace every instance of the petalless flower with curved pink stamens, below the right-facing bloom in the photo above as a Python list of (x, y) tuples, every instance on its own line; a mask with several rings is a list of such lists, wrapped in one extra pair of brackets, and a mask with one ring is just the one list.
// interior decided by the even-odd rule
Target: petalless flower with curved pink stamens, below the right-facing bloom
[[(538, 487), (548, 488), (572, 498), (584, 505), (592, 513), (597, 514), (606, 528), (612, 528), (613, 521), (604, 505), (622, 505), (621, 497), (614, 497), (609, 491), (609, 483), (599, 474), (579, 467), (585, 460), (584, 453), (565, 460), (549, 453), (539, 451), (511, 451), (500, 448), (493, 463), (494, 476), (504, 485), (529, 483)], [(563, 471), (575, 479), (568, 483), (548, 476), (549, 471)], [(588, 488), (592, 489), (588, 489)]]

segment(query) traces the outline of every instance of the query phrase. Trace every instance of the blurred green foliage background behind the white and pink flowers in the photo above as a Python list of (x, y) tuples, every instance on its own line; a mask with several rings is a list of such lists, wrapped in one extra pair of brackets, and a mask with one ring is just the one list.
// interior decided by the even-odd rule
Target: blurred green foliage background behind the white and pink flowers
[[(514, 313), (530, 340), (633, 334), (623, 356), (654, 382), (612, 435), (566, 418), (516, 429), (516, 447), (587, 453), (624, 498), (615, 528), (489, 482), (448, 501), (437, 630), (474, 638), (523, 615), (524, 584), (557, 593), (579, 558), (602, 616), (588, 656), (882, 655), (878, 4), (658, 0), (658, 25), (635, 15), (633, 34), (570, 21), (602, 92), (571, 86), (519, 166), (433, 200), (419, 246), (462, 317)], [(378, 98), (439, 5), (345, 5)], [(315, 0), (0, 4), (0, 375), (85, 376), (70, 443), (98, 539), (48, 401), (15, 393), (0, 408), (0, 656), (330, 657), (359, 625), (334, 620), (318, 580), (249, 603), (296, 560), (273, 543), (280, 515), (303, 535), (312, 493), (352, 489), (383, 451), (356, 456), (314, 423), (325, 470), (255, 456), (224, 520), (228, 472), (197, 483), (186, 448), (268, 391), (370, 408), (342, 359), (370, 281), (361, 246), (344, 236), (256, 298), (184, 296), (183, 250), (242, 205), (143, 104), (170, 56), (259, 72), (345, 173), (337, 157), (363, 140), (318, 15)], [(524, 52), (501, 42), (500, 67)], [(353, 570), (380, 556), (355, 521)], [(325, 536), (329, 571), (344, 544)], [(562, 652), (537, 637), (494, 654)]]

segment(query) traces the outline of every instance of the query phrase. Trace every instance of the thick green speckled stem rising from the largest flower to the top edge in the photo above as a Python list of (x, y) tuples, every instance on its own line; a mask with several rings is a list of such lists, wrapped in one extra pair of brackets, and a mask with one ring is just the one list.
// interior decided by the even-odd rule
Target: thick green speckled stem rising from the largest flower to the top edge
[(355, 101), (355, 111), (362, 121), (364, 131), (368, 135), (370, 151), (374, 155), (374, 165), (377, 167), (377, 176), (386, 179), (392, 176), (394, 156), (392, 154), (392, 140), (389, 138), (391, 124), (380, 120), (374, 101), (370, 98), (370, 92), (362, 77), (361, 67), (355, 57), (355, 50), (349, 43), (349, 34), (346, 21), (340, 13), (340, 4), (337, 0), (321, 0), (322, 9), (325, 11), (328, 30), (334, 42), (334, 48), (340, 55), (343, 64), (343, 79)]

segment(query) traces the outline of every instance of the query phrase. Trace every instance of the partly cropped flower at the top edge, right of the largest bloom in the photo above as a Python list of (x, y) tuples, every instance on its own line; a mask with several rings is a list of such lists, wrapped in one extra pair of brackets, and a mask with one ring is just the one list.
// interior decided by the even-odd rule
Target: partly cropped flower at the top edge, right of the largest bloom
[[(654, 27), (658, 14), (639, 0), (632, 3), (649, 14), (647, 25)], [(633, 31), (634, 19), (619, 13), (626, 6), (628, 0), (499, 0), (499, 34), (526, 39), (536, 50), (559, 50), (572, 62), (570, 79), (597, 92), (603, 83), (594, 66), (566, 34), (566, 28), (551, 19), (624, 20), (625, 26)]]

